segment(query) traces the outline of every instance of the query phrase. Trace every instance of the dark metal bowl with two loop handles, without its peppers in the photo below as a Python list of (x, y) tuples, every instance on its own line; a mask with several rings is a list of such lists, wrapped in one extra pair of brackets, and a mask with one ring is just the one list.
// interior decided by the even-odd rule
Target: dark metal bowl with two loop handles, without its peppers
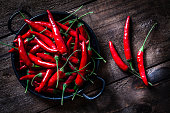
[[(26, 11), (21, 11), (21, 12), (22, 12), (22, 13), (25, 13), (26, 15), (28, 15), (28, 17), (31, 17), (31, 15), (30, 15), (28, 12), (26, 12)], [(60, 20), (60, 19), (62, 19), (62, 18), (64, 18), (64, 17), (66, 17), (66, 16), (69, 15), (69, 13), (65, 13), (65, 12), (56, 12), (56, 11), (55, 11), (55, 12), (51, 12), (51, 13), (52, 13), (52, 15), (53, 15), (53, 17), (54, 17), (55, 20)], [(15, 37), (15, 38), (17, 38), (18, 35), (22, 35), (22, 34), (26, 33), (26, 32), (28, 31), (28, 29), (29, 29), (29, 27), (28, 27), (28, 25), (27, 25), (26, 23), (25, 23), (19, 30), (17, 30), (17, 31), (14, 31), (14, 30), (11, 28), (12, 20), (13, 20), (14, 17), (15, 17), (16, 15), (18, 15), (18, 14), (20, 14), (20, 11), (16, 12), (15, 14), (13, 14), (13, 15), (11, 16), (11, 18), (9, 19), (9, 21), (8, 21), (8, 28), (9, 28), (9, 30), (10, 30), (12, 33), (16, 34), (16, 37)], [(74, 19), (74, 18), (76, 18), (76, 16), (71, 16), (71, 17), (69, 17), (69, 19)], [(39, 15), (37, 15), (37, 16), (32, 17), (30, 20), (32, 20), (32, 21), (48, 21), (48, 14), (47, 14), (47, 13), (39, 14)], [(83, 20), (80, 20), (80, 22), (82, 22), (82, 23), (85, 25), (85, 27), (87, 28), (87, 32), (89, 33), (89, 35), (90, 35), (90, 37), (91, 37), (91, 45), (92, 45), (92, 47), (93, 47), (98, 53), (100, 53), (98, 40), (97, 40), (94, 32), (93, 32), (92, 29), (89, 27), (89, 25), (86, 24)], [(74, 26), (73, 26), (73, 27), (74, 27)], [(17, 77), (18, 80), (19, 80), (19, 78), (21, 77), (21, 75), (25, 75), (26, 72), (21, 72), (21, 71), (17, 70), (17, 67), (19, 66), (19, 55), (18, 55), (17, 53), (12, 53), (12, 54), (11, 54), (11, 60), (12, 60), (12, 67), (13, 67), (13, 69), (14, 69), (14, 72), (15, 72), (15, 74), (16, 74), (16, 77)], [(98, 70), (98, 67), (99, 67), (99, 60), (96, 60), (96, 69), (95, 69), (96, 72), (97, 72), (97, 70)], [(101, 80), (102, 83), (103, 83), (102, 88), (101, 88), (101, 91), (100, 91), (97, 95), (95, 95), (95, 96), (93, 96), (93, 97), (89, 97), (89, 96), (87, 96), (86, 94), (83, 93), (83, 90), (85, 90), (85, 89), (90, 85), (89, 82), (85, 82), (85, 84), (83, 85), (83, 87), (81, 87), (81, 88), (79, 89), (78, 93), (79, 93), (80, 95), (84, 96), (86, 99), (95, 99), (95, 98), (97, 98), (97, 97), (103, 92), (103, 90), (104, 90), (105, 81), (104, 81), (102, 78), (98, 77), (98, 76), (95, 76), (95, 75), (92, 76), (92, 79), (96, 79), (96, 78), (99, 79), (99, 80)], [(26, 81), (21, 81), (21, 80), (19, 80), (19, 82), (22, 84), (22, 86), (23, 86), (24, 88), (26, 87)], [(52, 100), (60, 100), (60, 99), (61, 99), (61, 95), (50, 95), (50, 94), (46, 94), (46, 93), (38, 93), (38, 92), (35, 92), (35, 91), (34, 91), (34, 88), (33, 88), (31, 85), (29, 86), (28, 91), (30, 91), (31, 93), (33, 93), (33, 94), (35, 94), (35, 95), (37, 95), (37, 96), (39, 96), (39, 97), (41, 97), (41, 98), (45, 98), (45, 99), (52, 99)], [(64, 99), (68, 99), (68, 98), (70, 98), (70, 97), (72, 97), (72, 96), (73, 96), (73, 95), (70, 94), (70, 93), (65, 93)]]

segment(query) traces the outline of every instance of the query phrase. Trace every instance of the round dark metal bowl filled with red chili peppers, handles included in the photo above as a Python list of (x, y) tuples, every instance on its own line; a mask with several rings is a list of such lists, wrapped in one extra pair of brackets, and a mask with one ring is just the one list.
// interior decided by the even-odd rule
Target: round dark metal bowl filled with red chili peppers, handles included
[[(77, 11), (77, 10), (76, 10)], [(75, 12), (74, 12), (75, 13)], [(51, 12), (26, 19), (25, 11), (18, 11), (8, 21), (8, 28), (16, 34), (11, 60), (22, 86), (46, 99), (61, 100), (76, 95), (95, 99), (105, 87), (96, 75), (100, 57), (97, 38), (81, 17), (65, 12)], [(25, 24), (18, 31), (11, 28), (12, 20), (20, 14)], [(103, 61), (105, 61), (103, 59)], [(94, 97), (83, 93), (94, 79), (102, 81), (101, 91)]]

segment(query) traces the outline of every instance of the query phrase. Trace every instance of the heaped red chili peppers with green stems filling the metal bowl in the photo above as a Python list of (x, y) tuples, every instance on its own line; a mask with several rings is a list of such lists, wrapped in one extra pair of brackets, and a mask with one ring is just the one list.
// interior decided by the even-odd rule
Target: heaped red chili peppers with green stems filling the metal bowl
[[(18, 35), (15, 47), (9, 52), (19, 54), (18, 71), (27, 72), (20, 78), (27, 80), (26, 90), (32, 85), (39, 93), (60, 92), (63, 104), (64, 92), (75, 96), (94, 72), (89, 68), (92, 61), (90, 36), (85, 25), (79, 23), (80, 18), (56, 21), (49, 10), (47, 13), (48, 22), (24, 20), (30, 29)], [(74, 22), (78, 26), (72, 29)]]

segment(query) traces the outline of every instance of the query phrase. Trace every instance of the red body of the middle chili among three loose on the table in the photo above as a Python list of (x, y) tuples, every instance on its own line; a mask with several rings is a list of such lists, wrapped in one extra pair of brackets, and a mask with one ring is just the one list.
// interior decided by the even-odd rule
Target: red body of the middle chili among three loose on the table
[(131, 60), (131, 50), (130, 50), (130, 39), (129, 39), (129, 26), (130, 26), (130, 16), (127, 17), (126, 24), (124, 27), (124, 37), (123, 37), (123, 43), (124, 43), (124, 53), (126, 60)]

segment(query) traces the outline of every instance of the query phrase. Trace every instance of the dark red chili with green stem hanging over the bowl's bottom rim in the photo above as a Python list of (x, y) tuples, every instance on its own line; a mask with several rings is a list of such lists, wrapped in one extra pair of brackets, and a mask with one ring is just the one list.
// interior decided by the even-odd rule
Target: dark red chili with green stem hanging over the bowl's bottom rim
[(64, 92), (67, 86), (69, 86), (71, 84), (71, 82), (73, 82), (75, 80), (77, 76), (77, 73), (72, 73), (68, 79), (64, 82), (63, 84), (63, 91), (62, 91), (62, 98), (61, 98), (61, 105), (63, 105), (63, 99), (64, 99)]

